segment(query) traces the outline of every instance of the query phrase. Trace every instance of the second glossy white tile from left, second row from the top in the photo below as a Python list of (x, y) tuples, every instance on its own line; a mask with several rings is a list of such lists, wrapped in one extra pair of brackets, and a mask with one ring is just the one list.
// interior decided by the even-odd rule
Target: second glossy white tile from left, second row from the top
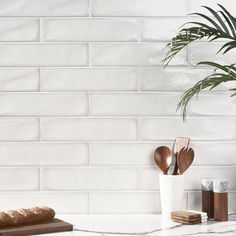
[(45, 19), (43, 41), (138, 41), (135, 19)]

